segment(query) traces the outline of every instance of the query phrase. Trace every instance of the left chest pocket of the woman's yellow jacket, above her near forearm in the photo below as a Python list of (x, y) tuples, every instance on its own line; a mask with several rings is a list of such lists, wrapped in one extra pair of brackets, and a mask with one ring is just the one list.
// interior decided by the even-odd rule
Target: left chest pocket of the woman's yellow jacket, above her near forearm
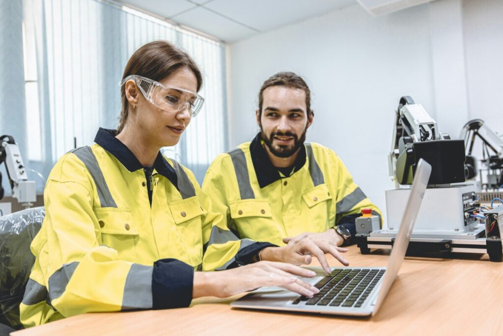
[(94, 208), (94, 211), (100, 226), (102, 244), (117, 250), (119, 257), (125, 260), (134, 260), (139, 232), (131, 210)]

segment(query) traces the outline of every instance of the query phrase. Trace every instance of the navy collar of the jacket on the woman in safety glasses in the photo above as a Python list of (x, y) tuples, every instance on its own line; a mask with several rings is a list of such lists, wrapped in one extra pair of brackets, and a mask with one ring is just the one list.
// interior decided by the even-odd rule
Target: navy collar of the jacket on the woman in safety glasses
[[(133, 152), (124, 145), (115, 136), (117, 130), (101, 128), (96, 133), (95, 143), (103, 147), (107, 152), (112, 154), (127, 170), (130, 172), (143, 169), (143, 165), (138, 161)], [(178, 189), (178, 177), (175, 169), (166, 161), (162, 154), (157, 153), (153, 167), (160, 175), (169, 179)]]

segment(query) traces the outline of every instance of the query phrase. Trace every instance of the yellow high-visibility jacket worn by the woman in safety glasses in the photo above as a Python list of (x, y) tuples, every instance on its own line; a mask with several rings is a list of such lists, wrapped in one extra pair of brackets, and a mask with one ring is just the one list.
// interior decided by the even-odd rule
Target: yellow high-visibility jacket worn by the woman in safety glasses
[(20, 306), (25, 326), (92, 311), (189, 306), (203, 245), (223, 220), (176, 161), (159, 153), (147, 179), (115, 131), (100, 129), (95, 142), (65, 154), (48, 177)]

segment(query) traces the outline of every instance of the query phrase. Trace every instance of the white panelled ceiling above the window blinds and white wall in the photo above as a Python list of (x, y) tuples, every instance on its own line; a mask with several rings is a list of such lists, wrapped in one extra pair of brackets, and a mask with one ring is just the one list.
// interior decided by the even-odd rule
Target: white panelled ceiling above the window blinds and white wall
[(357, 5), (356, 0), (122, 0), (120, 3), (229, 43)]

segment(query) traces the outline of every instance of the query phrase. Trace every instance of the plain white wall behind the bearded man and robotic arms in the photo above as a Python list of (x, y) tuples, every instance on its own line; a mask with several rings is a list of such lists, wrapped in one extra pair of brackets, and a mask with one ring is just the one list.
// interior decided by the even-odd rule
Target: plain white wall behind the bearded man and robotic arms
[(401, 96), (423, 104), (452, 137), (479, 116), (503, 131), (502, 3), (438, 0), (377, 18), (355, 5), (231, 44), (230, 146), (258, 131), (262, 82), (279, 71), (296, 72), (313, 93), (307, 140), (336, 151), (385, 211), (384, 190), (393, 187), (387, 155)]

